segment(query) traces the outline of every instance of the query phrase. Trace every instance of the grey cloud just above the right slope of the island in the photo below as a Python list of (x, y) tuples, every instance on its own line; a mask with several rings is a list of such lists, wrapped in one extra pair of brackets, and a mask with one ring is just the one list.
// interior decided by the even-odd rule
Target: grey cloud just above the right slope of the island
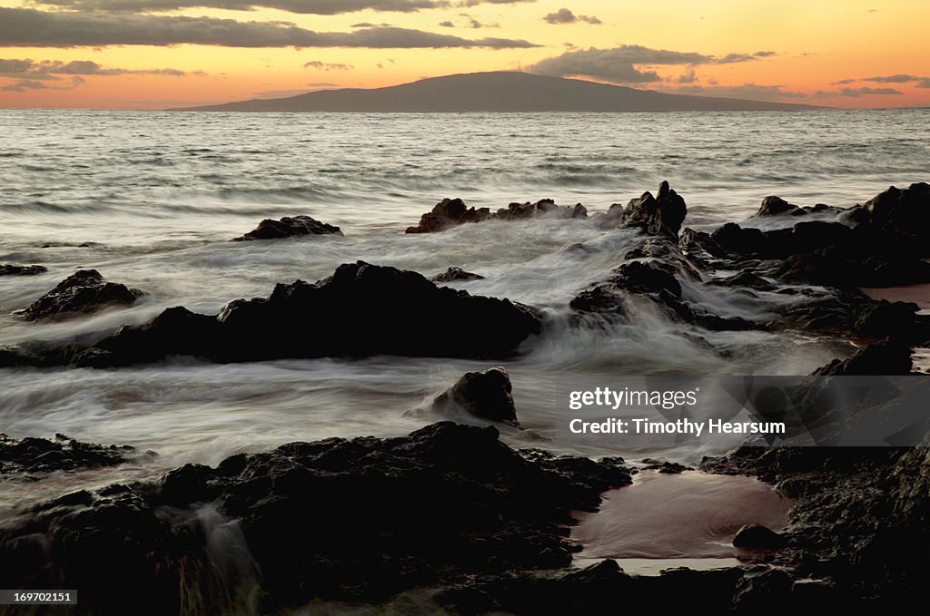
[(648, 84), (661, 78), (655, 71), (642, 69), (657, 65), (730, 64), (757, 59), (751, 54), (727, 54), (723, 57), (696, 52), (651, 49), (624, 45), (613, 49), (580, 49), (561, 56), (543, 59), (529, 67), (528, 72), (565, 77), (577, 75), (601, 79), (615, 84)]

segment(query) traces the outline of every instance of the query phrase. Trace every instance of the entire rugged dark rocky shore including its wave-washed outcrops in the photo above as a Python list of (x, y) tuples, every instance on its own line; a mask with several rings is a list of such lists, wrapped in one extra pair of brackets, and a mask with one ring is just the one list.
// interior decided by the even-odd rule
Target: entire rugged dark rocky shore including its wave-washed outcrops
[[(580, 204), (544, 200), (492, 214), (445, 200), (406, 231), (538, 216), (568, 224), (588, 213)], [(667, 183), (656, 195), (591, 216), (604, 233), (632, 232), (636, 242), (609, 276), (572, 299), (569, 325), (623, 323), (645, 302), (706, 334), (794, 330), (857, 349), (790, 392), (798, 409), (812, 413), (832, 377), (914, 373), (912, 349), (930, 346), (930, 316), (860, 288), (930, 282), (930, 185), (885, 190), (849, 209), (769, 197), (751, 221), (710, 231), (685, 227), (686, 216), (684, 198)], [(264, 221), (244, 239), (339, 232), (310, 221)], [(450, 268), (433, 280), (480, 278)], [(90, 343), (0, 349), (0, 367), (108, 369), (179, 356), (219, 363), (384, 354), (508, 360), (552, 326), (538, 308), (435, 282), (359, 261), (319, 282), (278, 284), (267, 298), (234, 300), (217, 315), (168, 308)], [(719, 290), (746, 308), (741, 315), (700, 301)], [(78, 272), (23, 317), (75, 316), (138, 296), (96, 271)], [(930, 387), (915, 383), (911, 395), (928, 400)], [(894, 410), (894, 400), (876, 402), (875, 395), (864, 388), (846, 400), (844, 421), (869, 426), (874, 413)], [(520, 426), (505, 368), (465, 374), (430, 408)], [(567, 539), (572, 512), (595, 510), (604, 491), (631, 483), (631, 467), (619, 458), (517, 450), (498, 439), (496, 427), (443, 422), (396, 439), (295, 442), (215, 467), (184, 465), (159, 481), (75, 491), (0, 525), (0, 578), (7, 587), (80, 588), (81, 612), (100, 614), (125, 613), (138, 596), (151, 598), (140, 613), (236, 606), (275, 613), (313, 601), (383, 605), (413, 592), (425, 593), (430, 609), (460, 614), (615, 613), (621, 601), (659, 610), (696, 602), (745, 612), (897, 608), (923, 587), (930, 553), (930, 422), (910, 429), (922, 447), (787, 448), (749, 440), (701, 461), (704, 472), (758, 477), (794, 499), (786, 531), (737, 535), (741, 547), (761, 554), (742, 567), (632, 576), (604, 560), (570, 569), (578, 551)], [(4, 473), (126, 459), (121, 450), (59, 440), (0, 441)]]

